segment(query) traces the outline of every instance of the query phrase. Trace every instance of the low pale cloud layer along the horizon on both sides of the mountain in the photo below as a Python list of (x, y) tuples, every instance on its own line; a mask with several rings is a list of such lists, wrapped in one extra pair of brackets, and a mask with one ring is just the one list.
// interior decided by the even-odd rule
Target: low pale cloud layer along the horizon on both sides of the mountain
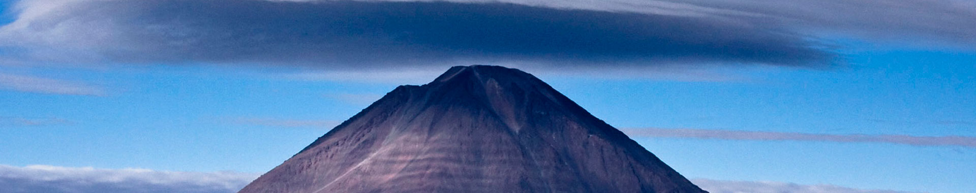
[[(185, 173), (144, 169), (94, 169), (0, 165), (0, 192), (5, 193), (233, 193), (258, 174)], [(692, 179), (712, 193), (901, 193), (834, 185), (801, 185), (773, 181)]]

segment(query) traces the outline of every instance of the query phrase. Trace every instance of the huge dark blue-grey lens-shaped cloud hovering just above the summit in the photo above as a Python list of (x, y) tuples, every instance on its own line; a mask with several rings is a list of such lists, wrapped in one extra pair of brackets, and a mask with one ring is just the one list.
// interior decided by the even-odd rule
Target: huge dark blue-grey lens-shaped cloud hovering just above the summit
[(629, 1), (460, 2), (22, 0), (17, 19), (0, 27), (0, 45), (46, 62), (329, 69), (826, 66), (835, 58), (807, 35), (737, 11), (659, 1), (640, 10), (625, 9)]

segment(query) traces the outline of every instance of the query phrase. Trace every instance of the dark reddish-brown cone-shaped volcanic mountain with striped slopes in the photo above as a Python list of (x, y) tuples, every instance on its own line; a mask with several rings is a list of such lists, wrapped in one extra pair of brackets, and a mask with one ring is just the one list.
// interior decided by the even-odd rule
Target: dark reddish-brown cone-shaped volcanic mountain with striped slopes
[(548, 84), (455, 66), (400, 86), (239, 193), (707, 193)]

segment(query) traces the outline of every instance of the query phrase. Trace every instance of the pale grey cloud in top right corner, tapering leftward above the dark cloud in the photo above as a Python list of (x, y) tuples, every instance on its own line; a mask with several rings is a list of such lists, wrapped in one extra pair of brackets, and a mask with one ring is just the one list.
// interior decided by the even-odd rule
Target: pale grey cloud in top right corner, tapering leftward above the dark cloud
[[(475, 1), (481, 0), (454, 0)], [(521, 5), (775, 22), (791, 31), (869, 43), (976, 49), (971, 0), (500, 0)]]

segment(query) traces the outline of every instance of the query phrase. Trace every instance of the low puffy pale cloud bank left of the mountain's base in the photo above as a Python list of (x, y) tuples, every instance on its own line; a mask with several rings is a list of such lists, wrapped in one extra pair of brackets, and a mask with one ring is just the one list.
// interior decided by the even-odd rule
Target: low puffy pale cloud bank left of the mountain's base
[(258, 174), (184, 173), (0, 165), (0, 192), (8, 193), (232, 193)]

